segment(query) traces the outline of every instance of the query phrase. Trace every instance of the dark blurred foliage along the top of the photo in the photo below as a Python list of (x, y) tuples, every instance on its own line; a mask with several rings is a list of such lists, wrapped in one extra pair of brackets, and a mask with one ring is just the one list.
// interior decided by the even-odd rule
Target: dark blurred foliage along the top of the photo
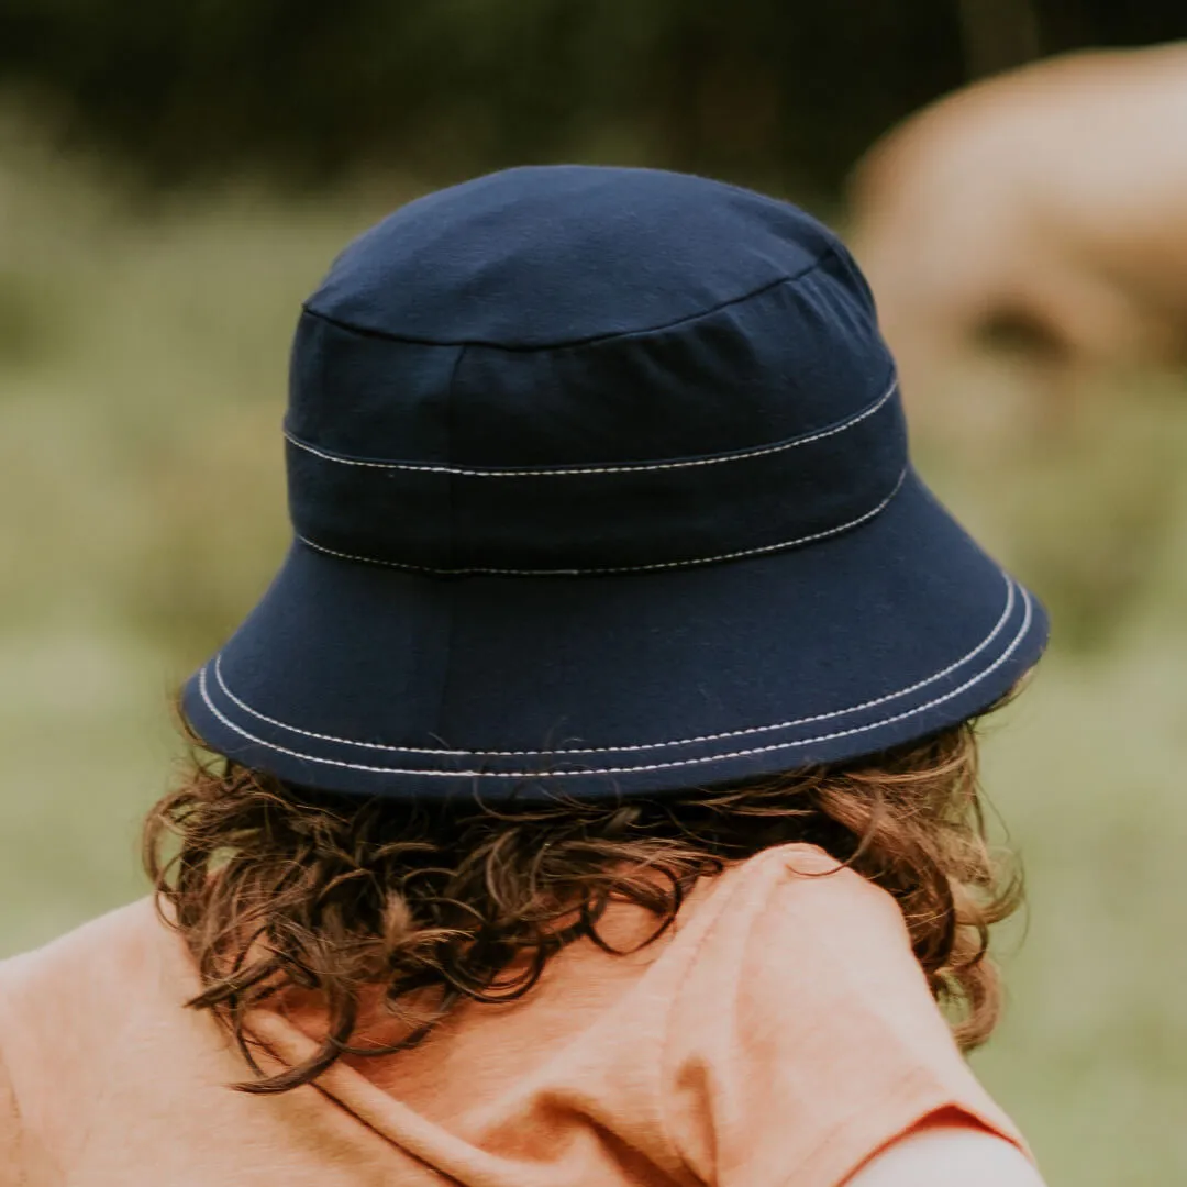
[(986, 21), (1027, 13), (1042, 52), (1187, 19), (1181, 0), (6, 0), (0, 80), (61, 144), (154, 182), (579, 157), (827, 193), (967, 77), (970, 40), (1001, 42)]

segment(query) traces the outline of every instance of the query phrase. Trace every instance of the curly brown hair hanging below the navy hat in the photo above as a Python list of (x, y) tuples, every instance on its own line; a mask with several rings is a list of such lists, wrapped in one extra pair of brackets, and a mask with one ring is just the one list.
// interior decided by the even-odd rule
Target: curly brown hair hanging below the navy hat
[[(649, 944), (697, 880), (789, 842), (895, 897), (957, 1039), (984, 1041), (999, 1001), (989, 927), (1018, 906), (1021, 882), (985, 839), (971, 722), (857, 763), (616, 802), (362, 801), (195, 749), (147, 818), (144, 853), (204, 986), (189, 1004), (218, 1017), (254, 1073), (236, 1087), (284, 1092), (343, 1054), (420, 1041), (464, 999), (527, 994), (578, 938), (615, 951), (598, 929), (611, 902), (650, 913)], [(247, 1016), (293, 988), (317, 995), (326, 1034), (267, 1075)], [(407, 1036), (353, 1047), (375, 991)]]

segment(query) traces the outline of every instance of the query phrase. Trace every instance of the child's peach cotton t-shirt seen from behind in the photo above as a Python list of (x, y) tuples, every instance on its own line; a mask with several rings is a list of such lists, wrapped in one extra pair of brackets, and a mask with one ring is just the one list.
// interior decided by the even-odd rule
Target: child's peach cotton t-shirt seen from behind
[[(636, 954), (580, 941), (525, 999), (271, 1097), (227, 1087), (246, 1067), (138, 902), (0, 964), (0, 1187), (836, 1187), (941, 1111), (1021, 1143), (894, 901), (806, 876), (832, 864), (767, 850)], [(316, 1020), (253, 1030), (299, 1058)]]

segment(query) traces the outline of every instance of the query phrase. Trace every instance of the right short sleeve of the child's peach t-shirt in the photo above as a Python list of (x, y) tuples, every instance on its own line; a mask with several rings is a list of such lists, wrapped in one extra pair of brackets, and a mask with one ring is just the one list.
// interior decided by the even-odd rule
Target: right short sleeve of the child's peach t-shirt
[(894, 900), (814, 850), (735, 875), (668, 1017), (661, 1093), (719, 1187), (836, 1187), (944, 1113), (1024, 1149), (960, 1055)]

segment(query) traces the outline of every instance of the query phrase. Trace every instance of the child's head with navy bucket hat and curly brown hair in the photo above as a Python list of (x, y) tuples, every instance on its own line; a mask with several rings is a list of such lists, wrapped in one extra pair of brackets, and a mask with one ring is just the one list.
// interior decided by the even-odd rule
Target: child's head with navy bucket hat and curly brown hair
[(970, 722), (1046, 624), (912, 470), (827, 230), (700, 178), (494, 174), (348, 247), (292, 375), (296, 540), (186, 686), (222, 757), (148, 832), (182, 836), (204, 1004), (315, 989), (330, 1061), (364, 988), (515, 992), (608, 900), (662, 928), (806, 840), (988, 1030)]

